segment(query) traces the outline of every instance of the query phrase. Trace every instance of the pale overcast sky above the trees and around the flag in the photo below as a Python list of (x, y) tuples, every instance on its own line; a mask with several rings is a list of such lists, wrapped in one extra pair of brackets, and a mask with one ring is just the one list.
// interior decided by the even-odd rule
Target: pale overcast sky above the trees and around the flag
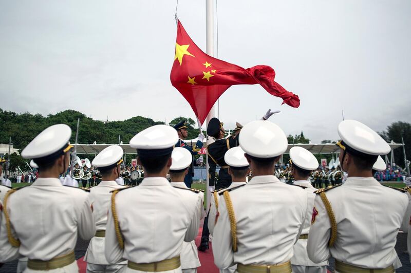
[[(170, 83), (175, 8), (172, 0), (0, 0), (0, 108), (195, 119)], [(233, 127), (281, 110), (270, 120), (312, 142), (338, 139), (342, 110), (377, 131), (409, 122), (410, 11), (408, 0), (218, 1), (218, 57), (273, 67), (301, 106), (281, 106), (258, 85), (233, 86), (216, 115)], [(206, 51), (206, 2), (179, 0), (178, 17)]]

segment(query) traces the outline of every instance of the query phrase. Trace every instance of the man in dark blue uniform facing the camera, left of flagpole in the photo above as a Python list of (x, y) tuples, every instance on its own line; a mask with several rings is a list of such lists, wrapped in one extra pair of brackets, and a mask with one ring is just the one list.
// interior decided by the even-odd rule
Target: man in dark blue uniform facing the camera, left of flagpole
[[(194, 147), (191, 147), (187, 145), (187, 143), (184, 142), (184, 139), (186, 139), (188, 136), (187, 129), (189, 129), (186, 125), (185, 120), (174, 125), (174, 129), (177, 130), (177, 134), (178, 134), (178, 141), (175, 144), (175, 147), (182, 147), (182, 148), (187, 149), (192, 154), (192, 156), (197, 155), (198, 152), (200, 152), (200, 149), (202, 148), (202, 145), (203, 145), (202, 140), (204, 139), (204, 134), (200, 133), (198, 135), (197, 143), (195, 144)], [(199, 163), (202, 163), (202, 160), (203, 158), (199, 157), (196, 161), (196, 165)], [(184, 183), (188, 187), (191, 187), (191, 184), (193, 183), (193, 176), (194, 176), (193, 158), (191, 159), (191, 161), (192, 163), (190, 164), (189, 173), (184, 177)]]

